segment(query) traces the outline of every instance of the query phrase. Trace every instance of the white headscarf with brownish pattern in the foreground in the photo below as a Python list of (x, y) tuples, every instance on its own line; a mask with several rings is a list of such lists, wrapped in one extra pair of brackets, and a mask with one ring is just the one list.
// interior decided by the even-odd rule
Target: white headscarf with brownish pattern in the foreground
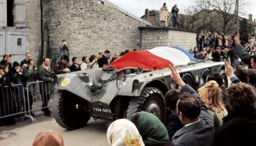
[(111, 123), (107, 131), (108, 145), (111, 146), (145, 146), (134, 123), (119, 119)]

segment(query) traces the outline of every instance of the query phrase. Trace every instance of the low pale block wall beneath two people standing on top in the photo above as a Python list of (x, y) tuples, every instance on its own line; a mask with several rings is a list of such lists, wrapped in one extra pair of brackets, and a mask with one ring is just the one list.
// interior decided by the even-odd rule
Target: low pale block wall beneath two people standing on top
[(140, 27), (140, 29), (141, 49), (159, 46), (180, 46), (184, 49), (192, 49), (197, 46), (195, 32), (161, 27)]

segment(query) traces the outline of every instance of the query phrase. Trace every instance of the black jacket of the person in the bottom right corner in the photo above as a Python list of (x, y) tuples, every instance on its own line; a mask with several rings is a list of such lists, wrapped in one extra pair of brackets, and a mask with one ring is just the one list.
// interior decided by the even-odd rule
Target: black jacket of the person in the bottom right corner
[(213, 145), (256, 145), (256, 108), (228, 113)]

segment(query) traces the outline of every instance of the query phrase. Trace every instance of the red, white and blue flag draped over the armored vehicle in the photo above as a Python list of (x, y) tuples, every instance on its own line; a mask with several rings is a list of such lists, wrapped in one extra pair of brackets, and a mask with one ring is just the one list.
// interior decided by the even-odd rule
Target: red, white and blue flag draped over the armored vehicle
[(191, 61), (198, 61), (181, 47), (156, 47), (150, 50), (137, 50), (127, 53), (109, 64), (118, 71), (124, 69), (143, 68), (144, 71), (168, 68), (170, 63), (175, 66), (187, 65)]

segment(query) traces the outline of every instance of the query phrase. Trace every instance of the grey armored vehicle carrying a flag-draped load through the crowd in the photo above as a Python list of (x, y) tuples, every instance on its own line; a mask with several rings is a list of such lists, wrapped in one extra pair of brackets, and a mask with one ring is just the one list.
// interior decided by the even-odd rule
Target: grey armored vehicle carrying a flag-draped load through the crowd
[(175, 64), (184, 82), (197, 89), (211, 72), (219, 72), (227, 84), (224, 63), (198, 61), (180, 47), (156, 47), (129, 52), (99, 69), (58, 75), (53, 116), (67, 130), (94, 120), (128, 118), (138, 111), (165, 120), (164, 94), (179, 88), (168, 68)]

